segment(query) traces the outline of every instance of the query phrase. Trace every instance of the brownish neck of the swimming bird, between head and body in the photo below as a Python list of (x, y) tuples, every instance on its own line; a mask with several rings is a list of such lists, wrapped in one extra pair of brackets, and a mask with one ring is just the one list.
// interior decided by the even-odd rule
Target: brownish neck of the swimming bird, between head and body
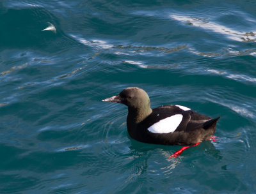
[(127, 119), (132, 121), (134, 124), (138, 124), (143, 121), (152, 112), (150, 107), (132, 108), (128, 107)]

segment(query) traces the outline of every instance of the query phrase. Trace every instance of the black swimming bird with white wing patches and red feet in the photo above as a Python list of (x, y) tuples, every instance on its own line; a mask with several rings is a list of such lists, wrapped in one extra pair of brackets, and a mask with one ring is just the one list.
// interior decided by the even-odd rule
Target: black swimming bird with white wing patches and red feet
[(198, 114), (181, 105), (151, 108), (148, 94), (139, 87), (127, 87), (102, 101), (127, 105), (127, 130), (131, 138), (150, 144), (186, 145), (170, 157), (177, 157), (184, 149), (209, 140), (220, 119)]

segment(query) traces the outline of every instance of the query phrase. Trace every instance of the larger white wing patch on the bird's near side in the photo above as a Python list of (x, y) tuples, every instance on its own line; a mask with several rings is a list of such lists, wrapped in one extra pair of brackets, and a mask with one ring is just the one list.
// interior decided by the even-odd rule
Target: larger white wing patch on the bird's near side
[(148, 128), (151, 133), (171, 133), (177, 129), (182, 121), (182, 114), (167, 117)]

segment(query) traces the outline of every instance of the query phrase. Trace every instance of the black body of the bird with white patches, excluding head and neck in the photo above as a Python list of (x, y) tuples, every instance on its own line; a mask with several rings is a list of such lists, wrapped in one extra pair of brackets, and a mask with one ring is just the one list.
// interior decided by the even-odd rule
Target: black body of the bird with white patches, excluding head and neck
[(165, 145), (191, 145), (209, 140), (215, 133), (217, 119), (198, 114), (179, 105), (153, 108), (140, 123), (127, 128), (140, 142)]

